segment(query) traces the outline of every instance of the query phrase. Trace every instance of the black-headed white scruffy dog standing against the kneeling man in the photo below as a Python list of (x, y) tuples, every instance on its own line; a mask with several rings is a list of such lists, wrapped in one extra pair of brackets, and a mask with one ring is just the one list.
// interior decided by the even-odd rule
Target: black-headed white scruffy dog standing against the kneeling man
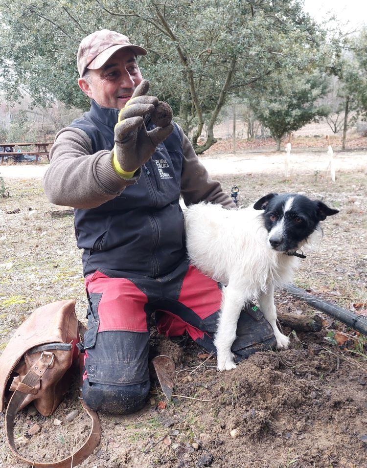
[(184, 209), (191, 263), (225, 285), (214, 340), (218, 370), (236, 367), (230, 348), (240, 312), (252, 300), (271, 324), (277, 348), (288, 347), (276, 326), (274, 287), (291, 281), (297, 250), (322, 232), (320, 221), (338, 212), (303, 195), (274, 193), (248, 208), (203, 202)]

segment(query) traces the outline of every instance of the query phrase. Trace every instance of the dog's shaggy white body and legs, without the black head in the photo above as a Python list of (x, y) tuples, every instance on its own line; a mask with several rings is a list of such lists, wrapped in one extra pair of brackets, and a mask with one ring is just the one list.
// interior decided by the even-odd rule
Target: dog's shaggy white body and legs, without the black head
[(240, 312), (249, 301), (258, 301), (274, 330), (277, 348), (289, 345), (289, 338), (276, 325), (274, 288), (291, 281), (298, 258), (271, 248), (263, 211), (252, 206), (227, 210), (199, 203), (184, 209), (191, 263), (226, 285), (214, 340), (218, 370), (236, 367), (230, 348)]

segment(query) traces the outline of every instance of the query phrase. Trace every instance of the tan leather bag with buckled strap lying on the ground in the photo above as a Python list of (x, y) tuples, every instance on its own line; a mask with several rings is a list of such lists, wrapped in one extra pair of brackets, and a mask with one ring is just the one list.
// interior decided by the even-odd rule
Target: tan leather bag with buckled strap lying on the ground
[(76, 347), (79, 341), (75, 300), (57, 301), (32, 312), (0, 356), (0, 411), (8, 397), (6, 439), (14, 455), (32, 467), (76, 467), (98, 445), (101, 432), (98, 416), (84, 401), (82, 405), (92, 419), (91, 432), (84, 445), (69, 457), (51, 463), (27, 460), (17, 452), (14, 443), (17, 412), (32, 401), (43, 416), (49, 416), (68, 392), (79, 361), (83, 369), (82, 355), (79, 356)]

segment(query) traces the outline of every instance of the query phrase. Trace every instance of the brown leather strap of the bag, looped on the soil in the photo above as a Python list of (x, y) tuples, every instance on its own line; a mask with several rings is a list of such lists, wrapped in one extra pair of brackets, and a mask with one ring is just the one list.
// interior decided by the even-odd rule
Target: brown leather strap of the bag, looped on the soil
[[(79, 363), (83, 363), (83, 358), (79, 355)], [(52, 367), (54, 365), (54, 355), (53, 353), (43, 352), (41, 357), (38, 361), (29, 369), (28, 373), (24, 376), (22, 383), (24, 384), (23, 388), (26, 386), (33, 388), (36, 386), (42, 376), (47, 371), (48, 367)], [(83, 365), (80, 366), (80, 375), (82, 378), (83, 373)], [(86, 442), (81, 446), (75, 453), (70, 455), (69, 457), (60, 460), (59, 462), (51, 462), (51, 463), (38, 463), (32, 462), (23, 458), (15, 448), (14, 443), (14, 420), (15, 415), (18, 413), (18, 410), (23, 403), (24, 399), (26, 398), (27, 394), (22, 393), (18, 390), (15, 390), (9, 404), (6, 408), (5, 413), (5, 430), (6, 430), (6, 439), (10, 446), (11, 451), (16, 455), (19, 459), (23, 462), (28, 463), (32, 467), (35, 468), (73, 468), (82, 463), (89, 455), (92, 453), (94, 448), (98, 445), (99, 439), (101, 437), (101, 427), (98, 420), (98, 415), (95, 411), (92, 411), (82, 400), (83, 408), (88, 413), (89, 417), (92, 419), (92, 428), (91, 432), (88, 436)]]

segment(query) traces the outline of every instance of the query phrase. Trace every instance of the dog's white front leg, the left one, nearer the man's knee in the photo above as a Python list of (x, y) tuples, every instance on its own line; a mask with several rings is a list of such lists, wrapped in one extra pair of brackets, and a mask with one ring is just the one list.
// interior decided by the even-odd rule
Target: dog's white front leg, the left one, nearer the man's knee
[(221, 312), (214, 339), (217, 348), (217, 369), (219, 371), (236, 368), (230, 347), (236, 339), (238, 317), (244, 302), (243, 288), (236, 288), (230, 283), (223, 288)]

